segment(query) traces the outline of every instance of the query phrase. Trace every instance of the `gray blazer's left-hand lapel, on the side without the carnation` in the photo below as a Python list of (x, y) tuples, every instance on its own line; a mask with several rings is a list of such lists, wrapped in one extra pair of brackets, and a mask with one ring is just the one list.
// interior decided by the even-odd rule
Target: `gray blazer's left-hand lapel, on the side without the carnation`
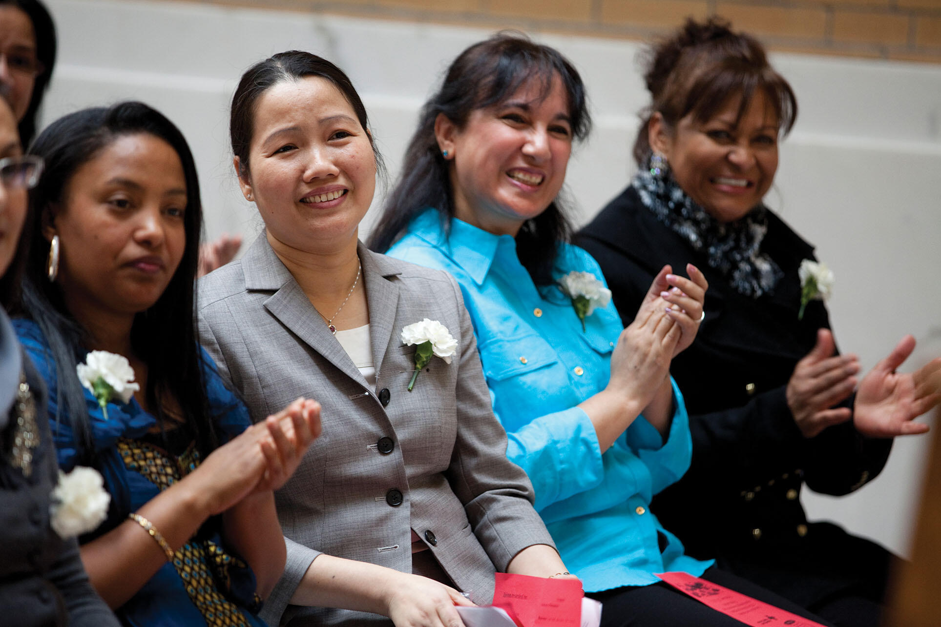
[(359, 368), (343, 351), (340, 342), (330, 333), (327, 323), (313, 308), (304, 290), (300, 289), (294, 276), (271, 249), (264, 232), (248, 249), (242, 259), (242, 267), (247, 290), (274, 291), (263, 304), (272, 316), (344, 374), (368, 388)]

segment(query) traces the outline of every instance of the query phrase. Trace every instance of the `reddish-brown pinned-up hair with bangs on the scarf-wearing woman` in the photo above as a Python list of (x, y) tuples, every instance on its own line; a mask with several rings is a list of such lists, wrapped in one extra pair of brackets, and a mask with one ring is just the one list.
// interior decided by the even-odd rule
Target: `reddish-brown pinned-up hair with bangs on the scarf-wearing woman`
[(740, 98), (741, 120), (757, 90), (774, 107), (779, 128), (789, 133), (797, 118), (797, 99), (788, 81), (774, 71), (758, 39), (732, 31), (722, 18), (686, 21), (668, 39), (647, 50), (644, 73), (650, 105), (634, 141), (633, 155), (643, 164), (650, 155), (647, 127), (660, 113), (668, 127), (693, 114), (698, 122), (715, 116), (732, 98)]

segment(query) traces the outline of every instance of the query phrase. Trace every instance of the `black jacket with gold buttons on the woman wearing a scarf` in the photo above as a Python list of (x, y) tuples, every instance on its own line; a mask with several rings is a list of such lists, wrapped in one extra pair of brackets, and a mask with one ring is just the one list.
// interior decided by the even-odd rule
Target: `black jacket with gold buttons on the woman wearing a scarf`
[[(653, 277), (670, 263), (706, 275), (706, 319), (694, 344), (674, 359), (693, 431), (686, 475), (652, 508), (693, 556), (718, 564), (791, 598), (813, 603), (859, 583), (884, 585), (885, 549), (836, 525), (808, 525), (804, 483), (823, 494), (848, 494), (882, 470), (891, 440), (864, 438), (852, 421), (805, 439), (794, 423), (785, 387), (829, 327), (812, 301), (798, 321), (803, 259), (813, 247), (774, 213), (761, 244), (784, 277), (758, 299), (733, 290), (718, 272), (648, 211), (628, 187), (576, 236), (601, 265), (625, 324), (633, 320)], [(881, 589), (877, 596), (881, 595)]]

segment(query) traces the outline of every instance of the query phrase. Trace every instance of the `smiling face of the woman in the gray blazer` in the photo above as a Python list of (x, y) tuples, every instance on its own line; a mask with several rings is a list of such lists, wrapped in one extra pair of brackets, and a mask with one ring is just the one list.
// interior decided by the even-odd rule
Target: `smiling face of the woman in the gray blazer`
[(239, 180), (272, 246), (317, 253), (355, 239), (373, 202), (375, 154), (343, 93), (315, 76), (280, 82), (258, 100), (253, 126)]

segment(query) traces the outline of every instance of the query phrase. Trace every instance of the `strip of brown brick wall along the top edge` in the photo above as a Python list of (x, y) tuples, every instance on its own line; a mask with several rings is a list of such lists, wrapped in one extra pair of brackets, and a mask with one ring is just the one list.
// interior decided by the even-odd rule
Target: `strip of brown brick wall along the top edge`
[(772, 50), (941, 63), (941, 0), (192, 0), (646, 40), (723, 15)]

